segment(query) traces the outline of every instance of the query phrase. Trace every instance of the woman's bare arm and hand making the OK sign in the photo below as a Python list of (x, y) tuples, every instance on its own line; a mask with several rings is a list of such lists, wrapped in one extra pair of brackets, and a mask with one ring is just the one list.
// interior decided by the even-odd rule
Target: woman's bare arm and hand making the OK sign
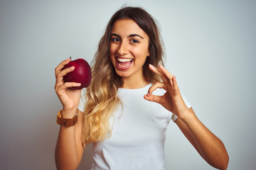
[[(178, 116), (176, 124), (208, 164), (219, 169), (227, 169), (229, 158), (223, 142), (198, 120), (192, 108), (186, 107), (178, 89), (176, 77), (163, 66), (156, 69), (156, 67), (149, 64), (149, 69), (159, 74), (163, 82), (154, 83), (144, 98), (148, 101), (160, 103), (161, 106)], [(153, 91), (158, 88), (166, 90), (164, 96), (152, 95)]]

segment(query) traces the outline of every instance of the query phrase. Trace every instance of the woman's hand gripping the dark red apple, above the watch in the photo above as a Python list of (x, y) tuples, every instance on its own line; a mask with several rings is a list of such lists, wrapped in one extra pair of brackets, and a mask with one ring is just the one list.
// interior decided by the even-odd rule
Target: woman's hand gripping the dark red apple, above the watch
[[(65, 117), (73, 118), (75, 116), (75, 113), (78, 109), (78, 103), (80, 101), (81, 97), (81, 90), (74, 90), (71, 91), (68, 89), (72, 86), (80, 86), (81, 84), (75, 83), (75, 82), (65, 82), (63, 81), (63, 77), (65, 74), (68, 74), (69, 72), (73, 72), (75, 67), (69, 67), (67, 69), (63, 69), (65, 64), (68, 64), (70, 62), (70, 59), (64, 60), (63, 62), (60, 62), (58, 64), (58, 67), (55, 68), (55, 92), (60, 99), (60, 102), (63, 105), (63, 114)], [(62, 70), (63, 69), (63, 70)], [(63, 117), (64, 117), (63, 116)]]

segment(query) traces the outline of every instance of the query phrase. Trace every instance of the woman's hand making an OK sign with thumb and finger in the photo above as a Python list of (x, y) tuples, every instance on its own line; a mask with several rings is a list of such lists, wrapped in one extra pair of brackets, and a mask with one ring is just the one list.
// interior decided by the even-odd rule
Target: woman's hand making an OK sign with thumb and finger
[[(187, 113), (189, 110), (186, 107), (186, 104), (183, 101), (181, 93), (178, 89), (178, 84), (176, 77), (174, 77), (170, 72), (168, 72), (163, 66), (159, 66), (159, 69), (149, 64), (149, 69), (152, 72), (159, 74), (163, 79), (163, 82), (157, 81), (154, 83), (148, 91), (148, 94), (144, 98), (148, 101), (154, 101), (160, 103), (161, 106), (164, 106), (167, 110), (174, 113), (178, 117), (181, 117), (183, 114)], [(164, 89), (166, 93), (164, 96), (155, 96), (152, 95), (153, 91), (156, 89)]]

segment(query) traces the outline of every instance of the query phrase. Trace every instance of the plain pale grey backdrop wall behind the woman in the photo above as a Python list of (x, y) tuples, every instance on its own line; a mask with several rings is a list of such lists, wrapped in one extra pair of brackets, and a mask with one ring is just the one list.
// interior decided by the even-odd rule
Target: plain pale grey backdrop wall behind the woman
[[(55, 67), (92, 62), (105, 26), (121, 6), (141, 6), (159, 23), (165, 65), (198, 118), (228, 149), (228, 169), (256, 169), (256, 2), (0, 1), (1, 169), (55, 169), (62, 108)], [(91, 149), (78, 169), (90, 169)], [(166, 132), (166, 170), (214, 169), (175, 123)]]

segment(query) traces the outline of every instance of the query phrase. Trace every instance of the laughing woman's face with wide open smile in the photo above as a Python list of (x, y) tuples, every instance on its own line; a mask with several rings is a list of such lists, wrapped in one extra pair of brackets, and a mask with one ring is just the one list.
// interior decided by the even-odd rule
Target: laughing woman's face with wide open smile
[(114, 23), (111, 31), (110, 59), (122, 79), (143, 79), (142, 66), (149, 56), (149, 37), (131, 19)]

